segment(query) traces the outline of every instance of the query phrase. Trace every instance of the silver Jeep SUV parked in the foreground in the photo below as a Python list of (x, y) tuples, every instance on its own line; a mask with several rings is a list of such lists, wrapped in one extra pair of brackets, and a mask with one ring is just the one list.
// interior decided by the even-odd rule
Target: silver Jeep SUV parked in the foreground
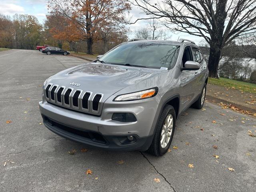
[(207, 80), (194, 42), (133, 40), (48, 78), (40, 112), (44, 125), (64, 138), (161, 156), (180, 114), (204, 105)]

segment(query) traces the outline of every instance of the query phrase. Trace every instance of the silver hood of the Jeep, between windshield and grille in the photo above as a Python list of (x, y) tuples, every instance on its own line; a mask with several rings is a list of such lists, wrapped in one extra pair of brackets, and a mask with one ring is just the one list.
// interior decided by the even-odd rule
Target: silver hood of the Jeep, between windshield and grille
[[(55, 74), (48, 83), (71, 87), (93, 94), (104, 94), (103, 102), (123, 88), (158, 76), (167, 70), (139, 68), (112, 64), (82, 64)], [(80, 86), (70, 85), (72, 83)], [(154, 82), (152, 82), (153, 84)]]

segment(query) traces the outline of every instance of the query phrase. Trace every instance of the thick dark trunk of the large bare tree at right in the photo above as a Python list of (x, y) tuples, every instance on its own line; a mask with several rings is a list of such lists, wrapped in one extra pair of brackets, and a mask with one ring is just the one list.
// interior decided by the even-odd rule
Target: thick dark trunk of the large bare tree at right
[(208, 60), (209, 77), (218, 78), (218, 66), (220, 62), (221, 49), (216, 45), (210, 45)]

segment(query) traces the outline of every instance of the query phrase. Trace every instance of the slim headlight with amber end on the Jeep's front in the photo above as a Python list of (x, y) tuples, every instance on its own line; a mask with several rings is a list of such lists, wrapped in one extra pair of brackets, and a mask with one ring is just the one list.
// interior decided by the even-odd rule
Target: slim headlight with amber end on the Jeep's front
[(114, 98), (114, 101), (132, 101), (132, 100), (139, 100), (139, 99), (146, 99), (150, 97), (154, 97), (158, 92), (158, 88), (147, 89), (139, 92), (129, 93), (119, 95)]

